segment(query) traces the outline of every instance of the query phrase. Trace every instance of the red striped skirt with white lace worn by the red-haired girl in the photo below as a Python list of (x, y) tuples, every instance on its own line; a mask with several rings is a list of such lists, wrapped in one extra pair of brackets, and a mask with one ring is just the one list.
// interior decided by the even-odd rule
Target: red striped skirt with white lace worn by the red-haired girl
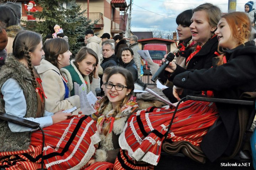
[[(161, 145), (174, 109), (151, 108), (133, 114), (119, 143), (128, 155), (138, 161), (157, 165)], [(214, 103), (186, 101), (179, 106), (167, 139), (188, 141), (199, 146), (203, 136), (218, 118)]]

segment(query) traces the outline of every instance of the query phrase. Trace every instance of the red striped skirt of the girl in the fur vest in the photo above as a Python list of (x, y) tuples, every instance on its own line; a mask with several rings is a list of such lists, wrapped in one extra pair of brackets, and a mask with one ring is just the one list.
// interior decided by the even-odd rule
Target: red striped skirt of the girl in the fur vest
[[(84, 169), (100, 141), (90, 117), (71, 117), (44, 128), (44, 164), (47, 169)], [(0, 152), (0, 167), (6, 170), (36, 170), (41, 167), (42, 132), (31, 135), (30, 148), (18, 152)], [(6, 157), (5, 159), (1, 159)]]

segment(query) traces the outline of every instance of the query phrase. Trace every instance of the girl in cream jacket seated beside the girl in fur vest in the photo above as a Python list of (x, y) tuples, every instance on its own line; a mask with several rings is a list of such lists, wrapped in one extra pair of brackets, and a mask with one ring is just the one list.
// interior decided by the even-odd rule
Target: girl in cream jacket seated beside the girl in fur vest
[(60, 69), (68, 66), (72, 53), (69, 51), (68, 42), (61, 38), (47, 40), (43, 50), (45, 59), (36, 68), (42, 79), (42, 86), (46, 95), (45, 108), (48, 112), (57, 112), (80, 108), (78, 95), (70, 97), (67, 80), (60, 74)]

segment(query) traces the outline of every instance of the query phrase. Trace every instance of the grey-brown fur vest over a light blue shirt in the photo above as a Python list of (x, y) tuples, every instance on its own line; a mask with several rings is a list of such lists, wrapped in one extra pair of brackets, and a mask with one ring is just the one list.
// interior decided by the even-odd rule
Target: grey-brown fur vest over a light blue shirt
[[(36, 73), (34, 73), (36, 74)], [(32, 85), (30, 70), (12, 55), (6, 58), (5, 65), (1, 67), (0, 74), (0, 112), (5, 113), (5, 102), (2, 97), (1, 87), (6, 80), (13, 78), (20, 85), (26, 99), (26, 117), (42, 117), (44, 112), (44, 101), (38, 105), (38, 96)], [(38, 107), (39, 106), (39, 107)], [(31, 132), (11, 132), (7, 121), (0, 120), (0, 152), (20, 151), (28, 149), (31, 140)]]

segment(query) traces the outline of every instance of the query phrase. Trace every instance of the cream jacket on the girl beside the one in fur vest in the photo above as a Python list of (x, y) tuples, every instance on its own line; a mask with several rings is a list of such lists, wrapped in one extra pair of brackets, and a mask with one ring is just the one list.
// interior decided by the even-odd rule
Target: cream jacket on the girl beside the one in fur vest
[[(36, 67), (42, 80), (42, 86), (46, 95), (45, 108), (48, 112), (57, 112), (70, 109), (72, 107), (80, 108), (79, 96), (71, 96), (64, 100), (65, 85), (60, 71), (52, 63), (42, 59), (41, 64)], [(65, 82), (65, 80), (64, 80)], [(70, 95), (69, 95), (70, 96)]]

